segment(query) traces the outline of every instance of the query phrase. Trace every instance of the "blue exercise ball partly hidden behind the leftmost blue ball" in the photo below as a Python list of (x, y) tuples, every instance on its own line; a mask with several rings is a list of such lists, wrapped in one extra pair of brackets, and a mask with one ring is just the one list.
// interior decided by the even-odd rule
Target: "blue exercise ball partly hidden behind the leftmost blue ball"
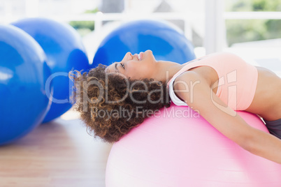
[(52, 72), (48, 84), (53, 83), (54, 93), (52, 105), (43, 123), (60, 117), (73, 105), (73, 85), (68, 77), (69, 71), (89, 70), (89, 60), (82, 39), (69, 24), (45, 18), (27, 18), (12, 24), (29, 33), (41, 45), (48, 58), (48, 66)]

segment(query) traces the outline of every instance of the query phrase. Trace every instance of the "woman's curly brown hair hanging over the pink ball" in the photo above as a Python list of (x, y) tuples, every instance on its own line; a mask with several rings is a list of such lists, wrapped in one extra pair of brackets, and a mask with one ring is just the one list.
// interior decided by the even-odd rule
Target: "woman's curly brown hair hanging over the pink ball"
[(131, 80), (106, 73), (106, 67), (99, 64), (88, 73), (70, 74), (74, 81), (74, 108), (94, 137), (117, 142), (161, 107), (170, 107), (171, 98), (166, 82)]

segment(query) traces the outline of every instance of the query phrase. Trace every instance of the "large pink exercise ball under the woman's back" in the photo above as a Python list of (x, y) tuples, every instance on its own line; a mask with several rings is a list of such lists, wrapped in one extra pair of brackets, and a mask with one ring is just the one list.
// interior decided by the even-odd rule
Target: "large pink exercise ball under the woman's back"
[[(268, 133), (257, 115), (237, 113)], [(113, 144), (106, 186), (273, 187), (280, 176), (278, 163), (245, 151), (189, 107), (172, 105)]]

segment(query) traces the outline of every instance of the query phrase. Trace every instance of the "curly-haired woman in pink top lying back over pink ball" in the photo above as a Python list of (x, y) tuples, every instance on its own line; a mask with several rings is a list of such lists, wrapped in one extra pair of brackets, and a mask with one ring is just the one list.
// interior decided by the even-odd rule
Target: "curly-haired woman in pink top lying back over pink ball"
[[(172, 99), (192, 107), (240, 147), (281, 163), (281, 79), (234, 54), (178, 64), (156, 61), (150, 50), (128, 52), (120, 62), (73, 79), (82, 120), (107, 142), (120, 140)], [(259, 114), (271, 134), (252, 128), (234, 110)]]

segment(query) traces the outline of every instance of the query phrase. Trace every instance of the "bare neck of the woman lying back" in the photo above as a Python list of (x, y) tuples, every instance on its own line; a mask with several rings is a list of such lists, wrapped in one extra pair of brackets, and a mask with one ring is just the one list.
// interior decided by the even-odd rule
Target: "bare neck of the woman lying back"
[(154, 80), (168, 83), (169, 80), (185, 66), (184, 64), (175, 63), (173, 61), (157, 61), (157, 70), (154, 73)]

